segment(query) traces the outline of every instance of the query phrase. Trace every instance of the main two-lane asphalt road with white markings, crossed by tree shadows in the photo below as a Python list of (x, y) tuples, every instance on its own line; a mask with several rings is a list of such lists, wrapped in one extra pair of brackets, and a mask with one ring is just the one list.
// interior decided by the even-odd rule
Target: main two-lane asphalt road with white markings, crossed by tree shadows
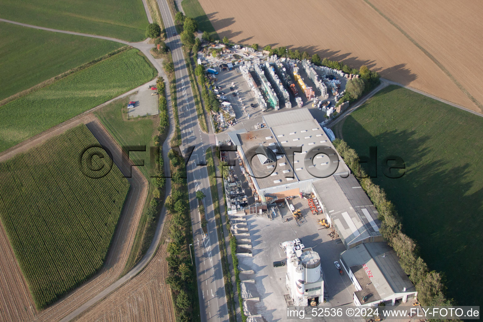
[[(213, 212), (213, 202), (206, 166), (206, 149), (213, 145), (208, 134), (201, 132), (198, 124), (193, 93), (189, 83), (188, 71), (182, 51), (182, 44), (174, 27), (173, 17), (166, 0), (157, 0), (163, 23), (168, 36), (167, 45), (171, 49), (176, 75), (176, 91), (178, 98), (178, 113), (182, 136), (181, 151), (186, 155), (189, 146), (195, 146), (186, 166), (188, 178), (189, 206), (191, 224), (193, 226), (194, 262), (198, 274), (198, 290), (201, 321), (228, 321), (227, 299), (223, 281), (218, 236)], [(214, 146), (213, 146), (214, 148)], [(201, 230), (200, 215), (196, 191), (201, 190), (206, 198), (205, 212), (208, 221), (208, 234), (204, 236)]]

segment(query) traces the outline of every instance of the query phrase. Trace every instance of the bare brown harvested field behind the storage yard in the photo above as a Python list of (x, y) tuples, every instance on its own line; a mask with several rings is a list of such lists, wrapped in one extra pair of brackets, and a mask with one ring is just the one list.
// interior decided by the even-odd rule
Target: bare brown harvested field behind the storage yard
[(220, 38), (363, 64), (483, 112), (483, 2), (199, 0)]

